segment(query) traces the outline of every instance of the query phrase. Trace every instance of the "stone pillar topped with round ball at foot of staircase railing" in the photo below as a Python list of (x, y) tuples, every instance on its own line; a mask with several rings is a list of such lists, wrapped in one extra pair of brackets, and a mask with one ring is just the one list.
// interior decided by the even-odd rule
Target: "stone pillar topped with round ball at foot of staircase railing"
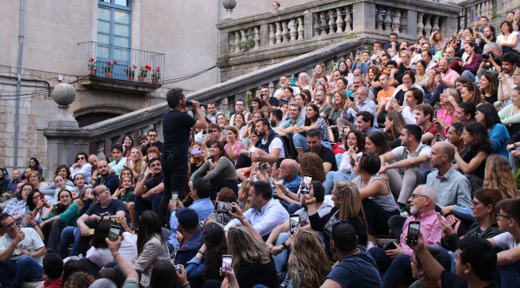
[[(68, 83), (60, 83), (54, 87), (51, 96), (60, 109), (44, 130), (47, 138), (47, 167), (53, 168), (62, 163), (71, 163), (80, 151), (88, 153), (89, 145), (81, 142), (85, 132), (69, 113), (69, 105), (76, 99), (74, 87)], [(45, 177), (52, 179), (53, 170), (47, 169), (46, 172)]]

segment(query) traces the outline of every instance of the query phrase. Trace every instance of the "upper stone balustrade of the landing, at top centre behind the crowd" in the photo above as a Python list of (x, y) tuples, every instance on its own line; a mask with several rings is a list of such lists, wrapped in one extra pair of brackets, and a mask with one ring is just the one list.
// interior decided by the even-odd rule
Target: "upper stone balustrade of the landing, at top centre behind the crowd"
[[(240, 3), (239, 3), (240, 5)], [(281, 62), (333, 42), (367, 36), (388, 42), (388, 33), (415, 42), (440, 29), (457, 30), (460, 7), (434, 1), (321, 0), (217, 24), (217, 66), (227, 80), (257, 67)]]

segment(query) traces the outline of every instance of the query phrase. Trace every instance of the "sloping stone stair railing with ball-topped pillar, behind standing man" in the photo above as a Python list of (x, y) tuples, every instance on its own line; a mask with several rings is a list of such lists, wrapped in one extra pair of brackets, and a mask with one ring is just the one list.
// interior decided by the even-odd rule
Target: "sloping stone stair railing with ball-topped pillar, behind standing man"
[[(246, 91), (256, 95), (263, 85), (274, 89), (281, 75), (297, 75), (302, 71), (310, 71), (317, 63), (326, 63), (329, 69), (333, 66), (333, 62), (338, 62), (347, 56), (351, 57), (364, 42), (365, 39), (360, 37), (331, 44), (291, 60), (200, 89), (190, 93), (188, 98), (202, 103), (216, 100), (219, 102), (220, 110), (233, 111), (235, 100), (244, 99)], [(68, 111), (75, 97), (76, 92), (70, 84), (58, 84), (53, 90), (53, 98), (58, 103), (60, 113), (49, 122), (49, 127), (44, 129), (44, 136), (47, 139), (48, 167), (69, 163), (70, 159), (74, 159), (73, 157), (80, 151), (98, 154), (104, 159), (105, 152), (110, 152), (112, 143), (121, 143), (125, 134), (131, 134), (134, 139), (137, 139), (137, 136), (146, 134), (146, 131), (153, 127), (159, 131), (159, 138), (162, 137), (161, 121), (168, 110), (166, 102), (85, 127), (78, 127), (78, 123)]]

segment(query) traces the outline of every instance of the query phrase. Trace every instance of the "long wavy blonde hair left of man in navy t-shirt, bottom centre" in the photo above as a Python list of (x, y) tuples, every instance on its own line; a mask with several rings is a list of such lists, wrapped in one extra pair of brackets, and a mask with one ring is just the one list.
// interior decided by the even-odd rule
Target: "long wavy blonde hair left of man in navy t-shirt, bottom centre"
[(331, 270), (329, 257), (322, 247), (320, 237), (305, 228), (293, 235), (287, 266), (293, 287), (320, 287)]

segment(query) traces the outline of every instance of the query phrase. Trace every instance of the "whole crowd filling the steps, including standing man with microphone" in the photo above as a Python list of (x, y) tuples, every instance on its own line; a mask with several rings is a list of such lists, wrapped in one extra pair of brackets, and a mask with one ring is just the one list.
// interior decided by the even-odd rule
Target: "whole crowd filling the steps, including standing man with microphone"
[(233, 113), (171, 89), (164, 143), (1, 168), (1, 287), (516, 287), (519, 23), (391, 33)]

